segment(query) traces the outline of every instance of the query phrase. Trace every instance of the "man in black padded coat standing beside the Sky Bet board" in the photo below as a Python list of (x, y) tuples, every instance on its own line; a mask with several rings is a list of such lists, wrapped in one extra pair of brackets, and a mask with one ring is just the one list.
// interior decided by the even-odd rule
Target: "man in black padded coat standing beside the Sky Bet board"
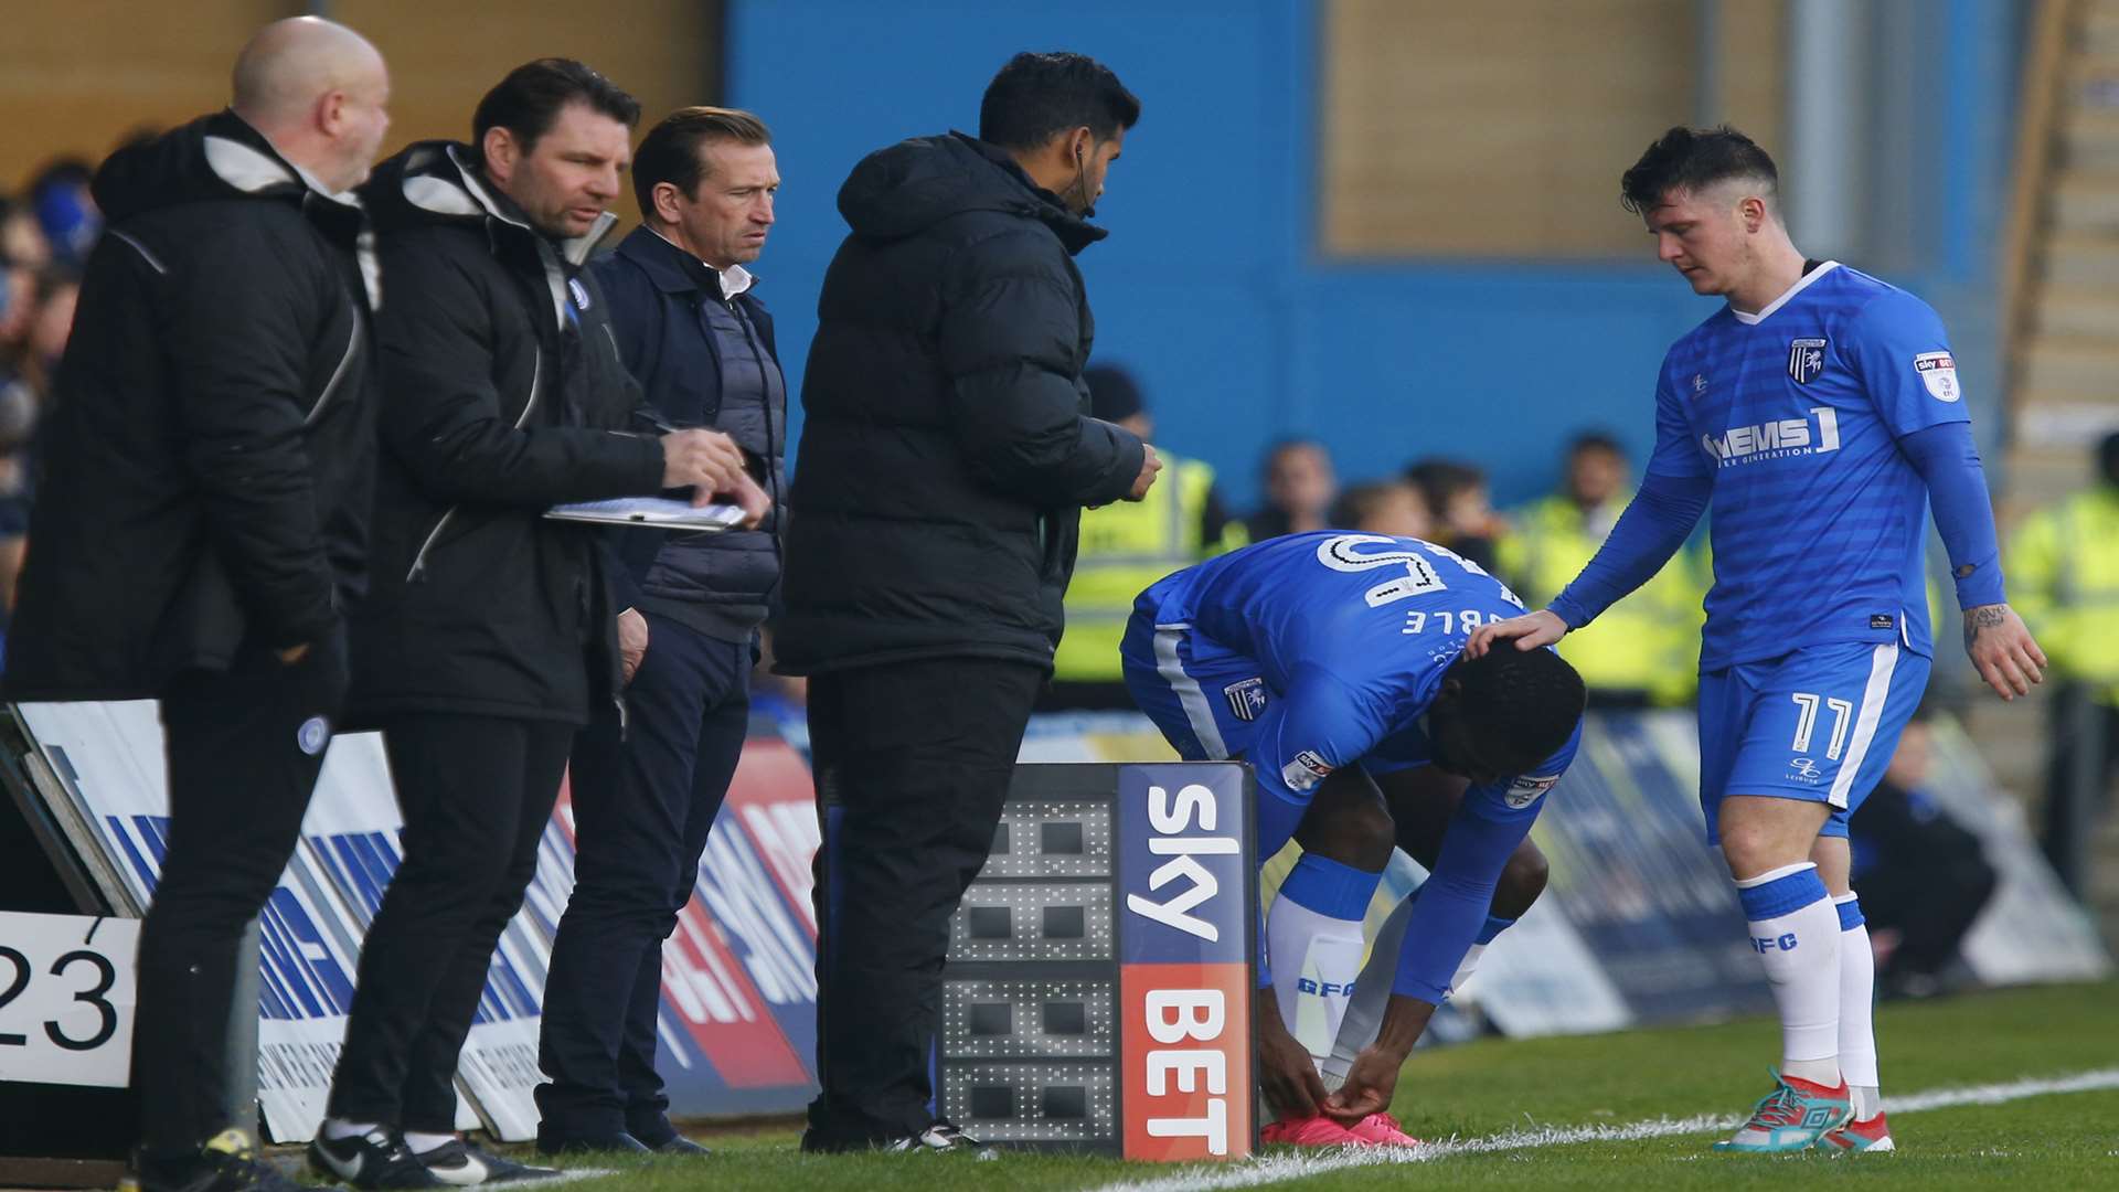
[(1083, 505), (1155, 452), (1087, 416), (1072, 255), (1140, 117), (1104, 66), (1023, 53), (979, 138), (871, 153), (803, 382), (780, 668), (812, 674), (822, 1092), (809, 1150), (951, 1150), (928, 1107), (949, 916), (985, 863), (1060, 641)]

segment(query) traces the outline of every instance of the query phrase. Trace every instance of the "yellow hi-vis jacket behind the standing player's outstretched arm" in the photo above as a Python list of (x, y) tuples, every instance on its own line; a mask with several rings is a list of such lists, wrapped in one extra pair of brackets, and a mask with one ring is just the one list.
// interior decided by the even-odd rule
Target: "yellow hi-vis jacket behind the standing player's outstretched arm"
[[(1632, 498), (1615, 505), (1623, 509)], [(1543, 609), (1596, 556), (1615, 522), (1591, 524), (1566, 496), (1547, 496), (1515, 513), (1513, 532), (1494, 543), (1494, 562), (1526, 604)], [(1699, 689), (1706, 590), (1702, 560), (1680, 549), (1655, 579), (1560, 638), (1560, 658), (1589, 689), (1646, 691), (1657, 704), (1682, 704)]]

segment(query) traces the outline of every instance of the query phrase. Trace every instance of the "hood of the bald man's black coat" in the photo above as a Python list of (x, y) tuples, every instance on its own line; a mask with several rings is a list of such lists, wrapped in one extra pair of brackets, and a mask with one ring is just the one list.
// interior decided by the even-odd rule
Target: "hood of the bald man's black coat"
[(303, 176), (265, 134), (231, 110), (112, 153), (89, 191), (112, 225), (182, 204), (244, 197), (301, 201), (309, 193), (358, 210), (352, 195), (333, 195)]

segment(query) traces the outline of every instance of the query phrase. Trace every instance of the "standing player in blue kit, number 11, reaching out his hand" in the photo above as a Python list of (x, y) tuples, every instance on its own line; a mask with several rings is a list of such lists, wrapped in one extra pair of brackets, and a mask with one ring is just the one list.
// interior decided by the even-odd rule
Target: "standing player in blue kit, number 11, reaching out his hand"
[(1782, 1027), (1774, 1090), (1714, 1150), (1850, 1154), (1892, 1139), (1846, 834), (1928, 681), (1930, 503), (1979, 677), (2028, 696), (2045, 655), (2002, 592), (1943, 322), (1905, 291), (1803, 259), (1778, 187), (1765, 151), (1727, 127), (1674, 127), (1625, 172), (1657, 255), (1727, 305), (1663, 356), (1655, 454), (1604, 547), (1551, 607), (1479, 626), (1466, 653), (1587, 626), (1712, 511), (1699, 806)]

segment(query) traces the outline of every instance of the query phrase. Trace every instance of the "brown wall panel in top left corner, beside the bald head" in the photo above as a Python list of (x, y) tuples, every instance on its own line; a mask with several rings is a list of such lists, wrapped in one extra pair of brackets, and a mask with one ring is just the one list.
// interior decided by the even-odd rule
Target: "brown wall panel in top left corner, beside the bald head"
[(102, 161), (131, 129), (225, 106), (235, 51), (299, 11), (286, 0), (8, 4), (0, 189), (19, 189), (51, 157)]

